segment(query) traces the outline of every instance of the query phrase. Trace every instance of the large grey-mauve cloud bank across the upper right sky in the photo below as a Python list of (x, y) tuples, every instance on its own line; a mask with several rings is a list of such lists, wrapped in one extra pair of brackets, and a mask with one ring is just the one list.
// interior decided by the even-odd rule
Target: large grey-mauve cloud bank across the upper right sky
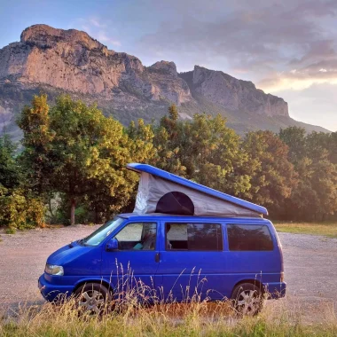
[[(156, 3), (154, 11), (163, 5), (162, 1)], [(216, 60), (221, 70), (240, 69), (240, 74), (253, 81), (263, 82), (270, 75), (293, 69), (302, 81), (304, 74), (311, 74), (305, 68), (337, 60), (336, 1), (229, 0), (223, 6), (223, 1), (216, 0), (207, 5), (200, 0), (172, 0), (172, 8), (178, 12), (176, 17), (161, 21), (156, 31), (141, 39), (138, 49), (161, 51), (177, 59), (179, 70), (192, 68), (192, 61), (202, 55), (206, 65), (214, 65)], [(329, 72), (330, 67), (320, 68)]]

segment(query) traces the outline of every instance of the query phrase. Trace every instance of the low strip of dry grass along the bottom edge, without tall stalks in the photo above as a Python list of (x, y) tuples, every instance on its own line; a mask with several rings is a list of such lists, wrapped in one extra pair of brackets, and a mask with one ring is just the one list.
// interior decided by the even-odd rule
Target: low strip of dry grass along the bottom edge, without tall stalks
[[(303, 324), (299, 313), (285, 305), (270, 306), (257, 317), (237, 317), (226, 303), (167, 304), (151, 308), (130, 305), (104, 317), (79, 317), (68, 304), (23, 308), (16, 317), (0, 318), (0, 336), (336, 336), (332, 308), (324, 320)], [(326, 311), (326, 312), (325, 312)]]

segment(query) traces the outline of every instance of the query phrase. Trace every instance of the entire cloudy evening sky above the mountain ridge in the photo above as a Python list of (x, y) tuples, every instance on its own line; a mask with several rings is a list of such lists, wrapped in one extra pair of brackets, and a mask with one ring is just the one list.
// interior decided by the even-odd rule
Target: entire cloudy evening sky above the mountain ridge
[(86, 31), (145, 66), (221, 70), (337, 130), (337, 0), (0, 0), (0, 48), (37, 23)]

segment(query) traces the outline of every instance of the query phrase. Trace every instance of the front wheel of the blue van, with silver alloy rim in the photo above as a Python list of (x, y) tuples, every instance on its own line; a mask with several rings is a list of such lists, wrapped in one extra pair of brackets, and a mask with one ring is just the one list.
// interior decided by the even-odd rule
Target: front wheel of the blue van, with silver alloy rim
[(100, 283), (86, 283), (74, 292), (76, 307), (82, 314), (103, 315), (109, 311), (111, 294)]

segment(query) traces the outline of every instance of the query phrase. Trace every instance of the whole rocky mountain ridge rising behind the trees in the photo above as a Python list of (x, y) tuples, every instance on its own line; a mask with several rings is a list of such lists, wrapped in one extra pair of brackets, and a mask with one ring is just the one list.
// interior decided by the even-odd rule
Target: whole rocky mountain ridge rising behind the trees
[(0, 129), (19, 137), (15, 116), (39, 92), (51, 99), (68, 92), (97, 102), (124, 124), (139, 117), (158, 120), (175, 103), (183, 119), (200, 112), (223, 114), (239, 133), (289, 125), (325, 130), (294, 121), (282, 98), (256, 89), (253, 82), (198, 66), (178, 74), (167, 61), (145, 67), (85, 32), (46, 25), (28, 27), (20, 42), (0, 50)]

